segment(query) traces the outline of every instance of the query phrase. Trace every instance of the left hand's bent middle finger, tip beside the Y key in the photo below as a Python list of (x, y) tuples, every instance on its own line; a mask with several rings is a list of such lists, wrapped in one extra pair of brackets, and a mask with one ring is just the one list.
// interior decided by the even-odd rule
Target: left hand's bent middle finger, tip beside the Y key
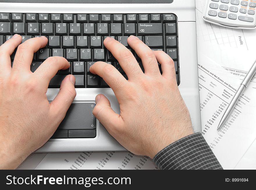
[(34, 53), (45, 47), (47, 42), (47, 37), (41, 36), (31, 38), (20, 44), (15, 54), (12, 71), (30, 71)]

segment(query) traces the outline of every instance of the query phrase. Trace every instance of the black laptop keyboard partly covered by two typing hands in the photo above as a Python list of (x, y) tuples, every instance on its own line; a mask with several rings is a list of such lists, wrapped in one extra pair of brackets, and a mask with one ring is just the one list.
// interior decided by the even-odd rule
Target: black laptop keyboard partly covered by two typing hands
[[(127, 79), (118, 61), (105, 48), (103, 41), (106, 37), (112, 37), (126, 46), (144, 72), (141, 59), (127, 44), (129, 35), (137, 36), (152, 50), (165, 51), (175, 62), (177, 84), (180, 83), (177, 17), (171, 13), (0, 13), (0, 45), (14, 34), (22, 35), (22, 43), (42, 35), (48, 38), (47, 46), (34, 54), (32, 72), (50, 56), (62, 56), (69, 61), (70, 68), (58, 71), (49, 88), (59, 88), (68, 74), (75, 76), (76, 88), (108, 88), (102, 78), (89, 71), (96, 61), (112, 64)], [(12, 61), (15, 52), (11, 55)], [(160, 65), (159, 69), (161, 72)]]

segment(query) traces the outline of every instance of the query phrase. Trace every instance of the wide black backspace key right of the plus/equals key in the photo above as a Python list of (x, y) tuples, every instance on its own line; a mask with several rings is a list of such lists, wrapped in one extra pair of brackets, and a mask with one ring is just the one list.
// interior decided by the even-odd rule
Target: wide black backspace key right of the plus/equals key
[(162, 23), (138, 23), (138, 35), (163, 35)]

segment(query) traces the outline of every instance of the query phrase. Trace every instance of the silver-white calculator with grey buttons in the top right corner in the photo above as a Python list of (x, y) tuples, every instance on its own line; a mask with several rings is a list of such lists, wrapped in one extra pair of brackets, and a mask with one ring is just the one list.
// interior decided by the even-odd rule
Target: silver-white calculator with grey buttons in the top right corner
[(254, 0), (206, 0), (203, 19), (228, 28), (255, 29), (255, 7)]

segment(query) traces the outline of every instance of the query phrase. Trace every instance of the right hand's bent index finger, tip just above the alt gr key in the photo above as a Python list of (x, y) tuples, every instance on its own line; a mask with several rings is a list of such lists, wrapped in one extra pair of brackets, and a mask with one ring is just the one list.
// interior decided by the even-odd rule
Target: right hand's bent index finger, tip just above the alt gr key
[(90, 67), (90, 72), (103, 78), (103, 80), (109, 85), (109, 87), (113, 89), (115, 94), (122, 93), (120, 92), (120, 89), (123, 89), (128, 83), (127, 80), (113, 65), (107, 64), (102, 61), (94, 63)]

